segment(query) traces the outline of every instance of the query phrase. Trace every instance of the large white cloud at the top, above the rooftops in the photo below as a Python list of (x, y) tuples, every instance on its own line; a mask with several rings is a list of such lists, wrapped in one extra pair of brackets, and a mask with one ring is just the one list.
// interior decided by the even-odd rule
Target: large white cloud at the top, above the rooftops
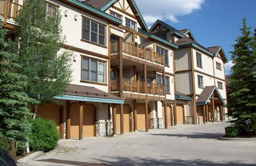
[(135, 0), (146, 23), (151, 25), (157, 19), (180, 22), (177, 16), (191, 14), (201, 9), (205, 0)]

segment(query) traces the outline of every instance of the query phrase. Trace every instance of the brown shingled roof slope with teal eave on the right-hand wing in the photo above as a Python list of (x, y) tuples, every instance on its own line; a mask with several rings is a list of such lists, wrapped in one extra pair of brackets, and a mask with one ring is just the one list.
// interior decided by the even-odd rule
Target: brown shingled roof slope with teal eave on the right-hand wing
[(200, 49), (201, 51), (211, 55), (211, 56), (214, 56), (213, 53), (205, 48), (204, 46), (202, 46), (201, 44), (199, 44), (198, 42), (190, 39), (189, 37), (187, 36), (184, 36), (182, 38), (180, 38), (179, 40), (177, 40), (174, 44), (176, 44), (177, 46), (179, 46), (179, 48), (184, 48), (184, 47), (189, 47), (189, 46), (194, 46), (196, 47), (197, 49)]

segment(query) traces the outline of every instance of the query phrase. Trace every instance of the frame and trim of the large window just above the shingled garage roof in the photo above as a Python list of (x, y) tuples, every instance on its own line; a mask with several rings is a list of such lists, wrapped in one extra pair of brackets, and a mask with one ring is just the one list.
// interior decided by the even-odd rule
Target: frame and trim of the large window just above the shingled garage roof
[[(83, 80), (83, 72), (82, 72), (83, 71), (83, 58), (90, 59), (89, 62), (91, 62), (91, 59), (96, 60), (97, 61), (97, 67), (99, 66), (99, 63), (104, 63), (104, 74), (105, 74), (104, 82), (91, 81), (90, 75), (88, 76), (90, 80)], [(90, 63), (89, 63), (89, 65), (90, 65)], [(80, 82), (108, 86), (108, 84), (107, 84), (107, 61), (104, 61), (104, 60), (101, 60), (101, 59), (98, 59), (98, 58), (94, 58), (94, 57), (88, 57), (88, 56), (81, 55), (81, 69), (80, 69), (80, 71), (81, 71)], [(89, 73), (90, 73), (90, 71), (91, 71), (91, 69), (89, 67)], [(97, 68), (97, 80), (98, 80), (98, 77), (99, 77), (99, 68)]]

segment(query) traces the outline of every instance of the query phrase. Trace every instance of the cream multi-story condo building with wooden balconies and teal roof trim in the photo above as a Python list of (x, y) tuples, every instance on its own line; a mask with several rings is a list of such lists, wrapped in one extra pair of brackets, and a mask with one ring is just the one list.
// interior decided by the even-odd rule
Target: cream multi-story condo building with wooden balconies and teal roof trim
[[(47, 14), (60, 10), (63, 49), (73, 50), (73, 80), (56, 96), (62, 105), (40, 105), (37, 113), (56, 122), (61, 138), (147, 132), (196, 122), (196, 115), (206, 117), (216, 104), (223, 110), (222, 48), (206, 49), (190, 30), (162, 21), (149, 30), (134, 0), (45, 2)], [(2, 25), (13, 40), (22, 3), (0, 1)]]

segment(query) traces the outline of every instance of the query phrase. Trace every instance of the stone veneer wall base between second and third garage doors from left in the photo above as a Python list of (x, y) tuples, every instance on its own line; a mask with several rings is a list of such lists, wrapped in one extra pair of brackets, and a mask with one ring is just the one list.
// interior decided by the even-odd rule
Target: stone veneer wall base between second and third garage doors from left
[(96, 137), (113, 134), (113, 123), (109, 121), (96, 122)]

